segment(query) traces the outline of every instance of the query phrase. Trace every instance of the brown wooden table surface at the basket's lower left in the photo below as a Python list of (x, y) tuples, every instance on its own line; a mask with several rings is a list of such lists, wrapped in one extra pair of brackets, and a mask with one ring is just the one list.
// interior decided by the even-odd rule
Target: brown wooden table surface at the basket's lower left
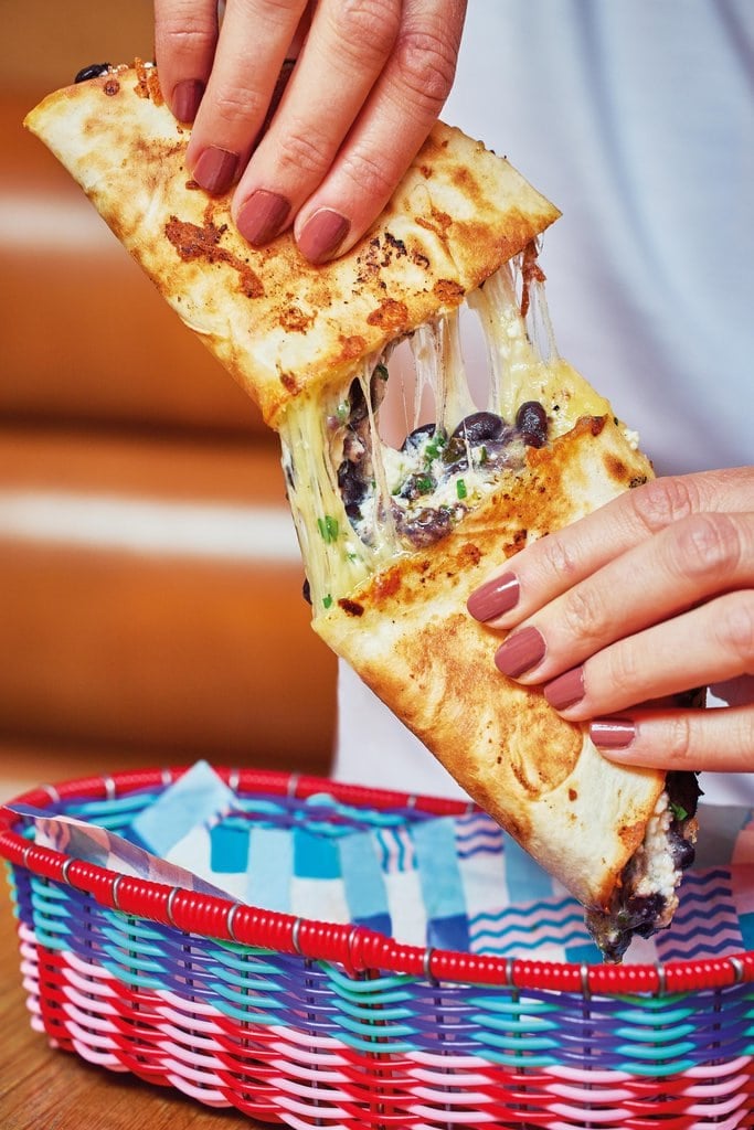
[(16, 922), (0, 871), (0, 1127), (2, 1130), (250, 1130), (237, 1111), (54, 1051), (34, 1032), (21, 988)]

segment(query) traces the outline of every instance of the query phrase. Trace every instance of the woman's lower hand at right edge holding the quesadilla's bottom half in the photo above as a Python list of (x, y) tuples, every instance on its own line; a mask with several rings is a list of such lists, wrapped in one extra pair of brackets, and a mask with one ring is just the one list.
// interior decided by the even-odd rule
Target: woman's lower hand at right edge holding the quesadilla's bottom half
[(754, 772), (751, 693), (708, 711), (671, 697), (754, 673), (754, 468), (629, 490), (522, 549), (468, 607), (513, 629), (499, 669), (591, 720), (607, 757)]

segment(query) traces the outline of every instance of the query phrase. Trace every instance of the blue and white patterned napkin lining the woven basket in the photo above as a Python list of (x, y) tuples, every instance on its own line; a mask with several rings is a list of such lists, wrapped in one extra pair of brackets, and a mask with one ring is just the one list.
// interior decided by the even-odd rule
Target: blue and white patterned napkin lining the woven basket
[[(754, 812), (703, 808), (673, 927), (632, 962), (754, 949)], [(598, 962), (583, 909), (480, 812), (433, 817), (328, 794), (239, 798), (205, 763), (133, 823), (135, 840), (242, 902), (355, 922), (406, 944)]]

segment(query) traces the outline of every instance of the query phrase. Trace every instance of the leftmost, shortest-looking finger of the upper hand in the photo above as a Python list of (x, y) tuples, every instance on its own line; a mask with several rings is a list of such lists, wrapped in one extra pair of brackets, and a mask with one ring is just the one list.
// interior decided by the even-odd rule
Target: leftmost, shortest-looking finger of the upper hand
[(163, 97), (180, 122), (192, 122), (217, 43), (215, 0), (155, 0), (155, 59)]

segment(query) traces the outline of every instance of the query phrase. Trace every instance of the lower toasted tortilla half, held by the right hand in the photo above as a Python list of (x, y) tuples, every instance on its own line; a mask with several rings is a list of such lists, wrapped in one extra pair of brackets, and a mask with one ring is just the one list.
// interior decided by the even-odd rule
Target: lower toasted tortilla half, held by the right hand
[(502, 679), (500, 633), (474, 620), (466, 601), (527, 541), (650, 473), (612, 417), (583, 418), (552, 446), (529, 449), (526, 469), (448, 537), (313, 620), (477, 803), (591, 907), (609, 903), (665, 774), (606, 760), (539, 689)]

